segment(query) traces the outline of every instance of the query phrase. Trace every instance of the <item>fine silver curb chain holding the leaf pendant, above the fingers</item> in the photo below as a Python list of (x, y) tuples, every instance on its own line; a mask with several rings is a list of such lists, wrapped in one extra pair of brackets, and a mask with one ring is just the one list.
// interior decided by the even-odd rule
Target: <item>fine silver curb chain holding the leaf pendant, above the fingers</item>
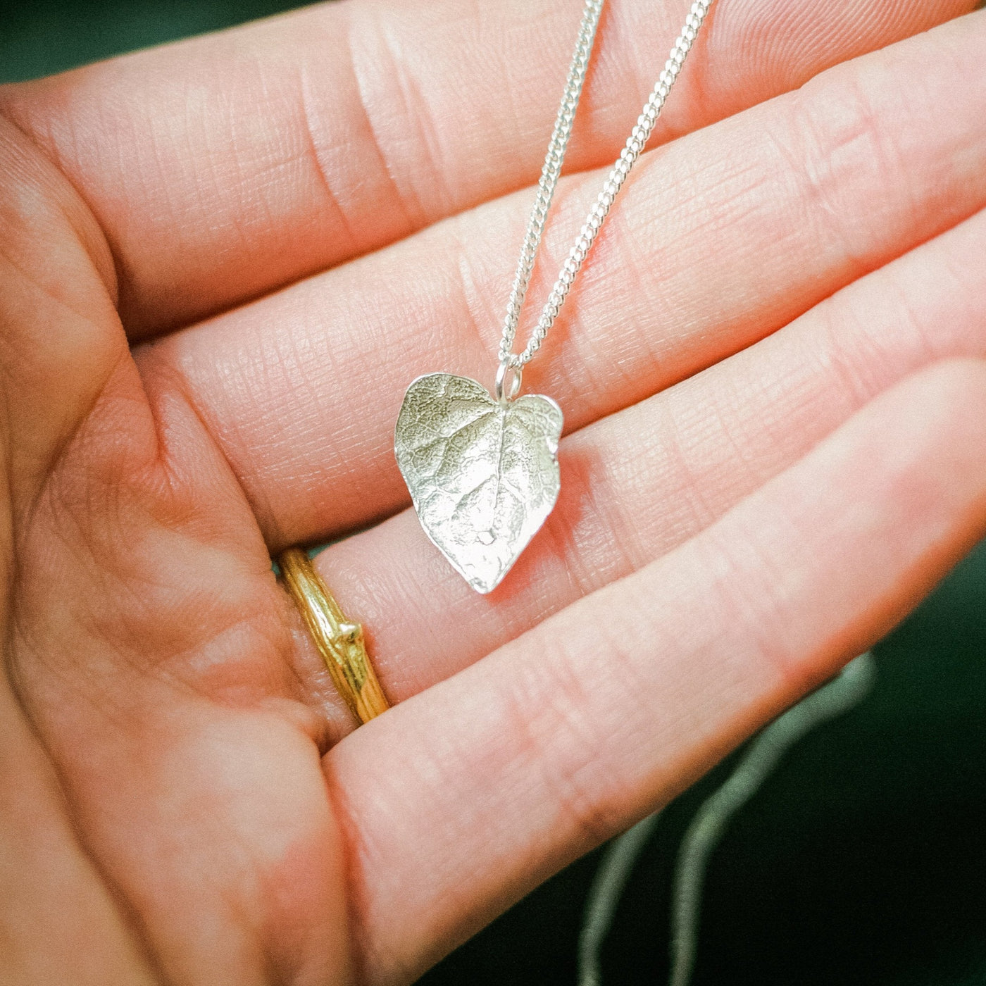
[(558, 279), (551, 289), (551, 294), (548, 295), (541, 316), (537, 319), (537, 324), (530, 334), (528, 345), (524, 352), (515, 353), (513, 352), (514, 338), (517, 335), (517, 323), (521, 315), (521, 307), (528, 292), (534, 256), (541, 242), (541, 234), (544, 232), (548, 207), (554, 196), (558, 178), (561, 176), (562, 162), (565, 159), (568, 139), (572, 134), (572, 125), (575, 122), (575, 110), (579, 105), (579, 97), (582, 95), (583, 83), (589, 69), (589, 58), (593, 50), (593, 42), (596, 39), (596, 28), (602, 13), (603, 0), (586, 0), (582, 25), (579, 28), (579, 38), (575, 45), (575, 54), (572, 56), (572, 65), (565, 83), (565, 92), (558, 109), (558, 116), (555, 119), (554, 131), (548, 144), (547, 156), (544, 158), (541, 177), (537, 183), (537, 196), (530, 213), (528, 231), (524, 238), (524, 246), (521, 249), (521, 257), (517, 264), (517, 273), (514, 276), (514, 286), (511, 289), (510, 301), (507, 305), (503, 338), (500, 341), (500, 370), (497, 373), (496, 383), (498, 397), (504, 396), (504, 382), (507, 377), (511, 378), (506, 387), (507, 398), (516, 396), (520, 390), (521, 372), (533, 358), (534, 353), (540, 349), (551, 325), (558, 317), (562, 303), (565, 301), (590, 247), (593, 246), (599, 235), (599, 229), (613, 204), (613, 199), (616, 198), (626, 176), (630, 174), (630, 169), (633, 168), (644, 150), (644, 145), (651, 136), (651, 131), (654, 129), (658, 116), (668, 99), (671, 86), (674, 85), (674, 80), (677, 79), (678, 73), (681, 71), (681, 66), (684, 64), (696, 36), (698, 36), (698, 31), (702, 27), (702, 22), (709, 13), (712, 3), (713, 0), (695, 0), (692, 3), (681, 34), (678, 35), (674, 47), (671, 48), (664, 71), (661, 73), (647, 103), (644, 104), (643, 111), (637, 118), (637, 123), (630, 132), (616, 164), (613, 165), (612, 171), (602, 185), (602, 190), (589, 212), (589, 218), (582, 227), (579, 239), (576, 240), (575, 246), (569, 252), (568, 259), (566, 259), (561, 272), (558, 274)]

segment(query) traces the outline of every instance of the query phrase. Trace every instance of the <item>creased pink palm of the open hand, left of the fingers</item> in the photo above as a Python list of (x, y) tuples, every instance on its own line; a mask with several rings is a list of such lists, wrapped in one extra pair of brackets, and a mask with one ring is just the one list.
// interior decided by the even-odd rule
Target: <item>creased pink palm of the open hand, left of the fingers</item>
[(96, 223), (5, 121), (0, 174), (0, 980), (349, 981), (242, 492), (187, 405), (152, 409)]

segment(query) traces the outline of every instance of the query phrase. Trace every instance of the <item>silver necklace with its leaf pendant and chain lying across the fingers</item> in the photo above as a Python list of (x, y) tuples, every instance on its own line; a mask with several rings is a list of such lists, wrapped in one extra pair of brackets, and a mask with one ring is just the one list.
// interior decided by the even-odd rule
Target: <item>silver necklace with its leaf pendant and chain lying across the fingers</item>
[(654, 91), (568, 254), (523, 352), (513, 351), (534, 257), (575, 122), (603, 0), (586, 0), (565, 92), (548, 143), (514, 276), (491, 395), (468, 377), (427, 374), (404, 394), (394, 453), (425, 533), (477, 592), (510, 571), (558, 499), (562, 412), (543, 394), (518, 396), (617, 192), (644, 150), (713, 0), (695, 0)]

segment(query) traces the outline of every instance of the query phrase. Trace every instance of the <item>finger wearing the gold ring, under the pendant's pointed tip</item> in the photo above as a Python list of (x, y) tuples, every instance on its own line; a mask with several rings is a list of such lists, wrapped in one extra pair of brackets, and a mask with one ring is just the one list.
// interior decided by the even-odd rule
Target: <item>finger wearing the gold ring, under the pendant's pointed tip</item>
[[(907, 374), (986, 358), (986, 267), (968, 262), (983, 255), (986, 212), (565, 438), (558, 505), (490, 596), (468, 588), (409, 510), (326, 548), (317, 569), (371, 633), (387, 695), (423, 691), (679, 546)], [(317, 702), (330, 702), (314, 650), (298, 662)]]

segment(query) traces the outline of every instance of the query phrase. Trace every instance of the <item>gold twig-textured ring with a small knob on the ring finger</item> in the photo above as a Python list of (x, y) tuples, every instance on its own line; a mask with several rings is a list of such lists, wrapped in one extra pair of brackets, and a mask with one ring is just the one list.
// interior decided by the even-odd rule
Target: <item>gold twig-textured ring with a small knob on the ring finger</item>
[(368, 723), (386, 712), (389, 705), (367, 656), (363, 627), (346, 619), (307, 552), (288, 548), (278, 556), (277, 566), (335, 687), (353, 715), (361, 723)]

